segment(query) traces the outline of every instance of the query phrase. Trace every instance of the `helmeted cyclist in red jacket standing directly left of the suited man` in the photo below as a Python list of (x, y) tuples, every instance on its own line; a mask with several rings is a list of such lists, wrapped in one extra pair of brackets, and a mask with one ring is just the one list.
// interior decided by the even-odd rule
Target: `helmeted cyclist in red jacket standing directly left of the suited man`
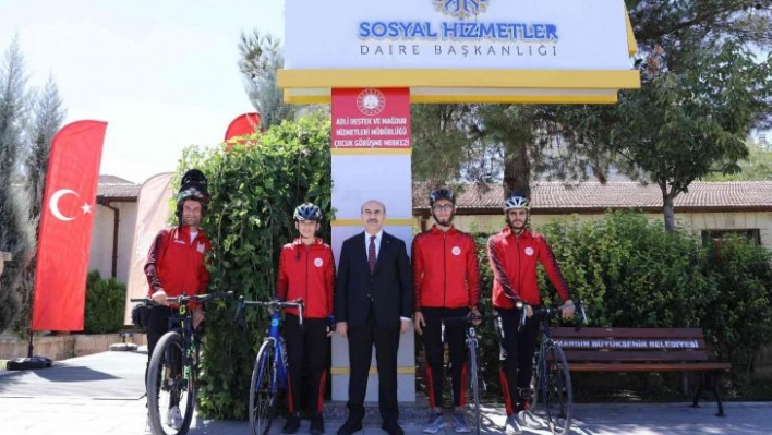
[[(333, 250), (316, 237), (322, 221), (318, 206), (304, 203), (294, 209), (294, 227), (300, 237), (286, 244), (279, 257), (276, 297), (282, 301), (303, 300), (303, 325), (298, 311), (288, 309), (284, 333), (289, 362), (289, 415), (281, 433), (294, 434), (300, 428), (301, 395), (310, 398), (312, 410), (311, 434), (324, 433), (325, 364), (329, 340), (327, 337), (333, 315), (335, 259)], [(301, 375), (307, 361), (310, 390), (301, 391)]]

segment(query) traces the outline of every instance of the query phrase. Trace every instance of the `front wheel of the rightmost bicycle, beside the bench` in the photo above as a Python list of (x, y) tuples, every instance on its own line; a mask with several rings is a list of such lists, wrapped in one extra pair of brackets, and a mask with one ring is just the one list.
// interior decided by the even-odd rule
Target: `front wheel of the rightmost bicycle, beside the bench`
[(545, 376), (542, 380), (544, 411), (550, 431), (556, 435), (564, 435), (571, 426), (574, 409), (571, 374), (560, 346), (550, 342), (544, 350)]

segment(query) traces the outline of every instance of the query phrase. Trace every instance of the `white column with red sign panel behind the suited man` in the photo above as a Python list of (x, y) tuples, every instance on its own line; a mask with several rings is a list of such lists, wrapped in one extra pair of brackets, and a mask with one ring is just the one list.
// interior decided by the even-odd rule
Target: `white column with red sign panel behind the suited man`
[[(343, 240), (364, 231), (362, 204), (386, 206), (384, 231), (412, 244), (412, 173), (410, 167), (410, 93), (407, 88), (333, 89), (333, 251), (340, 257)], [(397, 399), (415, 401), (415, 354), (412, 330), (402, 334), (397, 355)], [(375, 352), (365, 401), (377, 401)], [(333, 338), (333, 400), (348, 400), (349, 346)]]

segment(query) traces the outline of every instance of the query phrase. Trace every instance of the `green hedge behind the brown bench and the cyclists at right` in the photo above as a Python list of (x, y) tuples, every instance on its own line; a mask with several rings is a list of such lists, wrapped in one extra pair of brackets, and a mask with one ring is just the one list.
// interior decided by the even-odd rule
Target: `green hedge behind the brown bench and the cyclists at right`
[[(705, 246), (697, 234), (668, 234), (659, 220), (631, 212), (594, 221), (556, 219), (538, 230), (583, 302), (590, 326), (699, 327), (712, 358), (731, 362), (736, 374), (748, 374), (759, 350), (772, 342), (772, 252), (752, 241), (731, 238)], [(483, 301), (490, 304), (485, 240), (478, 243)], [(554, 289), (541, 268), (539, 276), (548, 301)], [(492, 333), (483, 333), (482, 353), (495, 389), (498, 345)]]

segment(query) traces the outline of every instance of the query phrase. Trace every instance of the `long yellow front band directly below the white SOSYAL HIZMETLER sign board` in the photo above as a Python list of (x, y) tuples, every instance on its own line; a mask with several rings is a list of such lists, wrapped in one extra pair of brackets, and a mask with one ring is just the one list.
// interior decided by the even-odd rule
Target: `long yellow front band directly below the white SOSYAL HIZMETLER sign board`
[(280, 88), (470, 87), (538, 89), (639, 88), (630, 70), (279, 70)]

